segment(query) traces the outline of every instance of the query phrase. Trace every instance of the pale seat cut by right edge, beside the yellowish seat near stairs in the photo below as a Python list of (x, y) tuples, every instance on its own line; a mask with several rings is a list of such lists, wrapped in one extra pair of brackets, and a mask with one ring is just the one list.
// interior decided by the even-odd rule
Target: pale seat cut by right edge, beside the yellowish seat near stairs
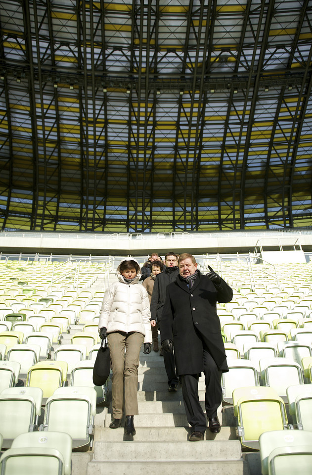
[(286, 393), (294, 427), (312, 431), (312, 384), (288, 386)]

